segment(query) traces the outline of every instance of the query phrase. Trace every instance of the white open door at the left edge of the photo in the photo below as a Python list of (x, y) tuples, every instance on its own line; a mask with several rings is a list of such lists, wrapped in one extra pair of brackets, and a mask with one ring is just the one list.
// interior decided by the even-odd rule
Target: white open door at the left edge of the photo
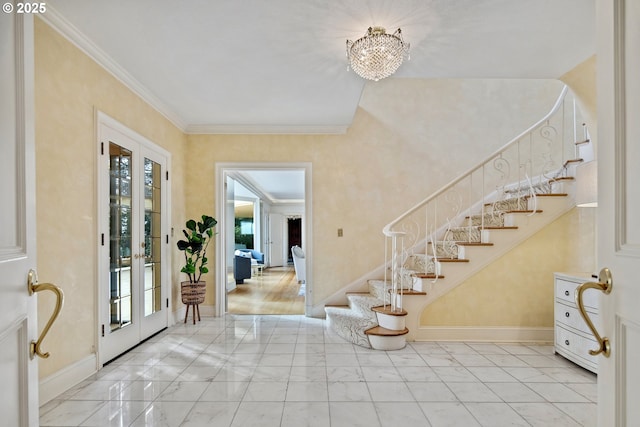
[(0, 424), (37, 426), (38, 359), (29, 357), (37, 298), (27, 290), (36, 266), (31, 15), (0, 14), (0, 76)]

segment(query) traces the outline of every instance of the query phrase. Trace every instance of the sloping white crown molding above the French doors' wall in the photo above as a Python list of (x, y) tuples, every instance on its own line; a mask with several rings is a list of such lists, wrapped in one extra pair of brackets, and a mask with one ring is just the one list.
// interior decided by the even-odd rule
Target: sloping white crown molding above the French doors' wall
[(98, 65), (129, 88), (133, 93), (142, 98), (142, 100), (158, 111), (158, 113), (173, 123), (178, 129), (186, 133), (185, 129), (187, 128), (187, 125), (175, 111), (169, 108), (169, 106), (162, 102), (142, 83), (129, 74), (127, 70), (122, 68), (120, 64), (114, 61), (113, 58), (107, 55), (95, 43), (87, 38), (87, 36), (85, 36), (77, 27), (67, 21), (50, 4), (47, 4), (47, 13), (38, 16), (51, 28), (60, 33), (64, 38), (69, 40), (73, 45), (89, 56), (89, 58), (94, 60)]

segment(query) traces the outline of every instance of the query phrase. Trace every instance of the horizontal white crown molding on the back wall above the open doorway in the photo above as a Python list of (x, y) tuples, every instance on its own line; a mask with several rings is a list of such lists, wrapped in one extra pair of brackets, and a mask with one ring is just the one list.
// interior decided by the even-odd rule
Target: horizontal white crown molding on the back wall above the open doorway
[(349, 125), (189, 125), (192, 135), (344, 135)]

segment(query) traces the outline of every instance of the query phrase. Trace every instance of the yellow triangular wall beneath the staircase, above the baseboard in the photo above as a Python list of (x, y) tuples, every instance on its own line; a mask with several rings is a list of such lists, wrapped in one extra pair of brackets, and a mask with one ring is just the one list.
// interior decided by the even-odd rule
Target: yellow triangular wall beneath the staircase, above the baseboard
[(595, 211), (573, 208), (427, 306), (420, 325), (552, 327), (553, 273), (593, 271)]

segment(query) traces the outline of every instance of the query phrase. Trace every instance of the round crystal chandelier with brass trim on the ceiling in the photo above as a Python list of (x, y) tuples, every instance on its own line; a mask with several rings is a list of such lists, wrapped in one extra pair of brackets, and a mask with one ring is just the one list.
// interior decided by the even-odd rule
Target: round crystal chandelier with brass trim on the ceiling
[(409, 57), (409, 43), (402, 39), (400, 28), (387, 34), (383, 27), (369, 27), (364, 37), (347, 40), (349, 65), (360, 77), (378, 81), (389, 77)]

